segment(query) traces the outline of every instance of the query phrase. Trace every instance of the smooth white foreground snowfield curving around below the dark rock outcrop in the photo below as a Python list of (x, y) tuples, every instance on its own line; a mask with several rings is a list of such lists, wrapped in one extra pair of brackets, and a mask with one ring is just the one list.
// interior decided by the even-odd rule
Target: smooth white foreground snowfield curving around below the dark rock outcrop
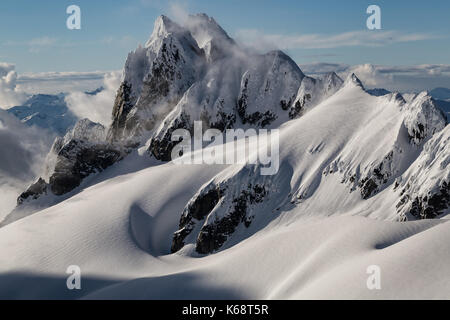
[[(221, 169), (208, 168), (175, 173), (167, 164), (117, 177), (2, 228), (0, 297), (449, 298), (448, 220), (293, 222), (294, 209), (218, 254), (189, 257), (186, 248), (166, 255), (176, 212)], [(64, 287), (73, 264), (83, 272), (75, 293)], [(381, 267), (381, 291), (366, 287), (369, 265)]]

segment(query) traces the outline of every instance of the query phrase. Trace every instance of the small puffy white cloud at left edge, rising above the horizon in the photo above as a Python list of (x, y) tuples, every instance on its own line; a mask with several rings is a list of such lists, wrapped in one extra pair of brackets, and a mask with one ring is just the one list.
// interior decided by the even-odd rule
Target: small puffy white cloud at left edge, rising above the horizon
[(20, 105), (26, 100), (26, 94), (16, 86), (15, 66), (0, 62), (0, 108)]

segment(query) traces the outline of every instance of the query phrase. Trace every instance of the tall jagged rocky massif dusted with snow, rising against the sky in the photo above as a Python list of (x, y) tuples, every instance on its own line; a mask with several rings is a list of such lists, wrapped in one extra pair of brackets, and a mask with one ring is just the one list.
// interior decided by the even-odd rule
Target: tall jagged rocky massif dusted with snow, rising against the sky
[(207, 15), (190, 16), (184, 26), (162, 16), (146, 46), (128, 56), (109, 139), (138, 145), (150, 137), (149, 153), (168, 161), (172, 132), (192, 131), (194, 121), (221, 131), (275, 127), (342, 85), (330, 74), (304, 93), (304, 78), (283, 52), (250, 53)]

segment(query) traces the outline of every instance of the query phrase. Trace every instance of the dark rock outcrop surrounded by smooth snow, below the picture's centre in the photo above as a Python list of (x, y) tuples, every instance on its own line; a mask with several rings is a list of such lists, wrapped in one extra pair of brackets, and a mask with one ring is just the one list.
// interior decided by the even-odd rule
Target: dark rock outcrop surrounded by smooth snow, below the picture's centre
[[(291, 172), (288, 168), (275, 176), (260, 176), (259, 165), (246, 165), (231, 176), (217, 176), (189, 201), (181, 214), (179, 230), (172, 241), (172, 252), (195, 243), (200, 254), (220, 250), (241, 230), (264, 223), (261, 208), (276, 212), (279, 194), (287, 193)], [(256, 227), (256, 226), (255, 226)]]

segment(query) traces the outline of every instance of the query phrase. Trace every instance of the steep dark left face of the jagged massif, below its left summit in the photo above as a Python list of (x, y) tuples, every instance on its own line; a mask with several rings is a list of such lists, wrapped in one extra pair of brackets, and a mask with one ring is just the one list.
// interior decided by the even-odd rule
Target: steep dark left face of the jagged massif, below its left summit
[(139, 138), (152, 130), (196, 81), (203, 60), (204, 52), (188, 30), (159, 17), (145, 47), (128, 55), (110, 141)]

